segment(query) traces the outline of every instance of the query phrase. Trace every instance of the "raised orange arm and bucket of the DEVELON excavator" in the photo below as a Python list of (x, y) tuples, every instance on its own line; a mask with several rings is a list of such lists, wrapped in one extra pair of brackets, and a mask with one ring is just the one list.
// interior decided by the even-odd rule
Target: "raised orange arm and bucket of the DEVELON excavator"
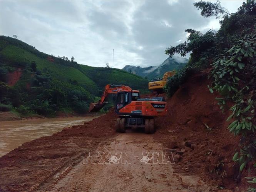
[(105, 86), (104, 92), (103, 92), (99, 102), (90, 104), (89, 113), (93, 112), (93, 111), (94, 112), (99, 111), (104, 106), (105, 99), (107, 98), (107, 96), (109, 94), (116, 94), (118, 91), (122, 91), (122, 90), (132, 90), (132, 88), (129, 87), (129, 86), (125, 86), (125, 85), (110, 85), (110, 84), (107, 84)]

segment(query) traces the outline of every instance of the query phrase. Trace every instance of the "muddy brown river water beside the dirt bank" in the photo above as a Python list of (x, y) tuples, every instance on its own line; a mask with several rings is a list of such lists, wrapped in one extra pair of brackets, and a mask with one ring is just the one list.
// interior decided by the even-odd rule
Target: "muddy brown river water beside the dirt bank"
[(84, 124), (95, 117), (67, 117), (0, 122), (0, 156), (25, 142), (52, 135), (64, 127)]

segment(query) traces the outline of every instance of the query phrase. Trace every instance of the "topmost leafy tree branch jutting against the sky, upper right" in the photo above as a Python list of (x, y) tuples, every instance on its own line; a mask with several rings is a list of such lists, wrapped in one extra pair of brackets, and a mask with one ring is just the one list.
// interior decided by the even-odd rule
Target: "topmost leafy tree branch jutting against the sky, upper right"
[(227, 10), (224, 7), (221, 7), (221, 4), (219, 1), (216, 3), (212, 2), (205, 2), (200, 1), (193, 4), (198, 10), (201, 9), (201, 15), (203, 17), (211, 17), (216, 16), (216, 18), (219, 18), (219, 14), (223, 15), (224, 13), (231, 15), (227, 12)]

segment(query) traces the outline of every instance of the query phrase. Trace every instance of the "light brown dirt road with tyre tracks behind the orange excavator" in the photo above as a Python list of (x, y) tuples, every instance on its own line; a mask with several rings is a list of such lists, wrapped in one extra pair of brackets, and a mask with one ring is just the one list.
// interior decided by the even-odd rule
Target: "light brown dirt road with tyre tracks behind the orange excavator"
[[(168, 159), (164, 161), (166, 164), (155, 164), (156, 159), (143, 162), (145, 153), (142, 152), (161, 152), (162, 149), (163, 146), (154, 142), (152, 135), (138, 132), (118, 134), (114, 139), (102, 142), (96, 151), (127, 152), (127, 163), (123, 158), (120, 159), (120, 155), (116, 155), (119, 161), (115, 159), (115, 164), (105, 164), (111, 155), (105, 159), (102, 155), (103, 160), (99, 161), (99, 158), (97, 161), (97, 153), (92, 153), (87, 163), (84, 157), (74, 167), (67, 167), (65, 171), (57, 173), (54, 182), (43, 184), (39, 191), (209, 191), (211, 187), (199, 178), (174, 173), (172, 166), (175, 164), (168, 163)], [(152, 157), (152, 153), (148, 155)], [(173, 162), (172, 158), (169, 160)]]

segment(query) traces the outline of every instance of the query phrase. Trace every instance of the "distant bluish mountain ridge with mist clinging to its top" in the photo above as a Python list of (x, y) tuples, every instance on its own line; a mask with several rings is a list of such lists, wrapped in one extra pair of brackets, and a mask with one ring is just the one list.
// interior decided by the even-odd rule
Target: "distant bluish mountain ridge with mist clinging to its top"
[(122, 70), (125, 70), (129, 73), (133, 73), (139, 75), (144, 78), (157, 78), (162, 77), (165, 72), (178, 70), (184, 67), (188, 62), (187, 58), (183, 57), (168, 57), (162, 64), (158, 66), (150, 66), (150, 67), (139, 67), (134, 65), (125, 65)]

